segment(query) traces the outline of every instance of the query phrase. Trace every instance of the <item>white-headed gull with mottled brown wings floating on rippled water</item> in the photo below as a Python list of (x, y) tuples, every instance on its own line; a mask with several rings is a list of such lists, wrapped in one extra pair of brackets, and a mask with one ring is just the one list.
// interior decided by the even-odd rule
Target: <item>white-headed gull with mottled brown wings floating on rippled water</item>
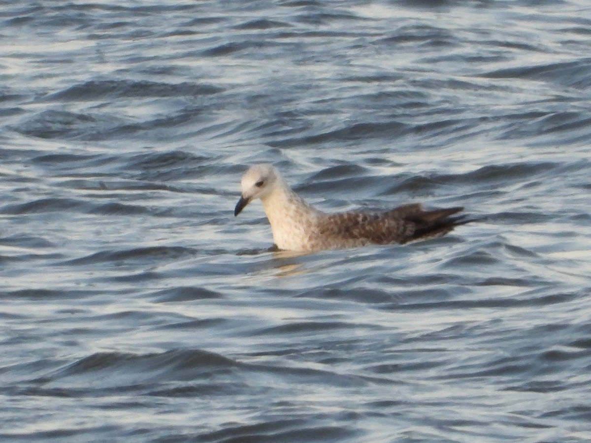
[(440, 237), (459, 224), (463, 216), (450, 217), (462, 207), (426, 211), (420, 203), (405, 204), (385, 212), (324, 213), (298, 196), (270, 164), (253, 165), (242, 177), (242, 195), (234, 216), (256, 198), (271, 225), (278, 249), (312, 252), (365, 245), (404, 244)]

